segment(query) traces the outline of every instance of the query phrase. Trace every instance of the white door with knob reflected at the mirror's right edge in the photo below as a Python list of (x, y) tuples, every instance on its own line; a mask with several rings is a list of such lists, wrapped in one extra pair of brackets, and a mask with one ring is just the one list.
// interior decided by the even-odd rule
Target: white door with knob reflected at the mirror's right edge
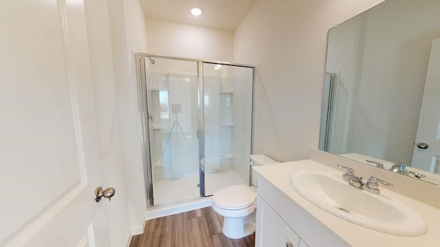
[[(432, 41), (412, 167), (440, 173), (440, 38)], [(423, 147), (428, 144), (428, 148)], [(421, 147), (419, 148), (418, 145)], [(423, 149), (426, 148), (426, 149)]]

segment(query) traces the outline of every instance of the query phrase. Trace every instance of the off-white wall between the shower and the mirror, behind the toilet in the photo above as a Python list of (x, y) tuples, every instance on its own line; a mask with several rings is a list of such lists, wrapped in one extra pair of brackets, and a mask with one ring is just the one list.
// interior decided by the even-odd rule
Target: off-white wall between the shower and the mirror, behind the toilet
[(318, 147), (327, 30), (382, 0), (259, 0), (234, 32), (234, 62), (255, 64), (254, 153), (278, 161)]

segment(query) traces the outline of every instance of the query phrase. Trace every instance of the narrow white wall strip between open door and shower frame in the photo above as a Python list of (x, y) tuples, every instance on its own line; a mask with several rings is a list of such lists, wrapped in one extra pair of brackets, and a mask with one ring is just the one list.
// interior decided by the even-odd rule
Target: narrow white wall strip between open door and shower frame
[(146, 51), (144, 14), (137, 0), (109, 1), (115, 98), (120, 125), (122, 174), (132, 233), (142, 233), (146, 216), (144, 167), (137, 119), (135, 53)]

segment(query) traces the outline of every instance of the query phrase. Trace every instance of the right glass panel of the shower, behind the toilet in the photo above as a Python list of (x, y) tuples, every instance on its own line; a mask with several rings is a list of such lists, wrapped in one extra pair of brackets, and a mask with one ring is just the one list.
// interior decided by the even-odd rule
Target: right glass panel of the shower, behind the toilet
[(204, 192), (249, 185), (252, 67), (203, 62)]

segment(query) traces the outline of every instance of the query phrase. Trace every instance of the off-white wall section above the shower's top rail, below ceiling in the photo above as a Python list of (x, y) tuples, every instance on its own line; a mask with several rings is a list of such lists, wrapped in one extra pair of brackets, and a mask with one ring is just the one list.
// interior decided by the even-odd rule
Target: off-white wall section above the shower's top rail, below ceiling
[(146, 19), (148, 54), (232, 61), (232, 32)]

